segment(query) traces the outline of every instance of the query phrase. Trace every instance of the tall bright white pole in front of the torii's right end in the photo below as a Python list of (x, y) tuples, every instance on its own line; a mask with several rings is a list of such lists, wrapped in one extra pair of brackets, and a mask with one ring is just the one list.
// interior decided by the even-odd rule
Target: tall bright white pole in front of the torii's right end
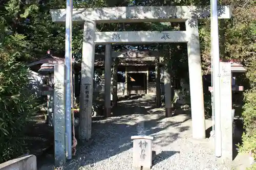
[(214, 80), (214, 115), (215, 115), (215, 156), (221, 157), (221, 114), (220, 114), (220, 52), (217, 0), (211, 0), (211, 45)]

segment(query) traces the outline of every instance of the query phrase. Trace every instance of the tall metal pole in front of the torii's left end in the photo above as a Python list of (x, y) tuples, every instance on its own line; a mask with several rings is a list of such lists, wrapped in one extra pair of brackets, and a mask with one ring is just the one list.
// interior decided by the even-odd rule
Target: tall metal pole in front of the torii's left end
[(67, 0), (66, 8), (66, 41), (65, 41), (65, 65), (66, 65), (66, 86), (65, 86), (65, 115), (66, 115), (66, 148), (67, 158), (72, 158), (72, 124), (71, 124), (71, 78), (72, 78), (72, 7), (73, 1)]

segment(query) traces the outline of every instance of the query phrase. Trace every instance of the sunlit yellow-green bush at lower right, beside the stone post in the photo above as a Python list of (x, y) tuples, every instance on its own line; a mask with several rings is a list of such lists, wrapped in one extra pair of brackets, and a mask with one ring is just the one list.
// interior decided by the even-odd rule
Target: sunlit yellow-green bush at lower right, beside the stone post
[(252, 152), (256, 160), (256, 88), (245, 92), (245, 105), (243, 107), (244, 127), (243, 145), (240, 152)]

